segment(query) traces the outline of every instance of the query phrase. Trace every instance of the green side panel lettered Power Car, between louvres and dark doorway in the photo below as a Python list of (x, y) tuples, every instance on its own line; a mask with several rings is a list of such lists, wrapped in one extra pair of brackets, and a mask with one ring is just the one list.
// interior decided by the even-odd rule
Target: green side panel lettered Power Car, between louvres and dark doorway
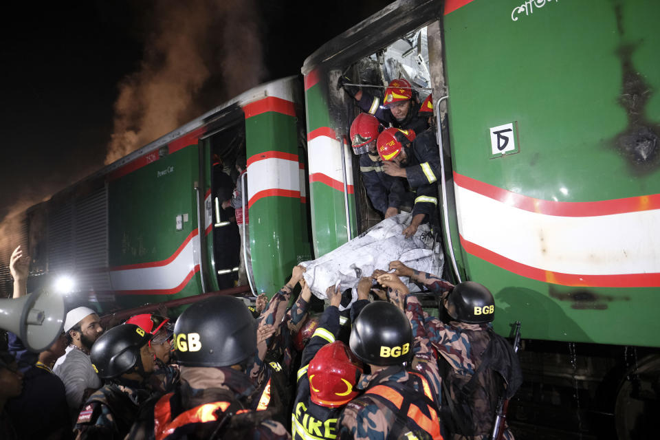
[[(157, 151), (151, 155), (154, 162), (109, 182), (110, 278), (122, 307), (201, 292), (199, 276), (192, 276), (197, 271), (187, 263), (175, 259), (167, 268), (150, 264), (168, 261), (190, 236), (189, 243), (199, 239), (193, 190), (198, 175), (197, 146), (160, 158)], [(177, 216), (181, 218), (178, 230)], [(144, 273), (133, 276), (131, 271), (136, 270)], [(179, 287), (166, 280), (165, 275), (173, 272), (180, 273), (181, 281), (189, 275), (190, 279), (175, 296), (156, 294)]]

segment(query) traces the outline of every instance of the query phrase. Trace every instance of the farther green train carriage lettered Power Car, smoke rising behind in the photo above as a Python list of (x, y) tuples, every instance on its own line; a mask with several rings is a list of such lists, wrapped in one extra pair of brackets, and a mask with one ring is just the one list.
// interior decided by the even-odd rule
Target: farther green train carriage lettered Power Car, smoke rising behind
[(236, 244), (238, 231), (221, 218), (213, 162), (245, 155), (250, 290), (277, 292), (311, 259), (302, 112), (298, 78), (255, 87), (30, 208), (17, 240), (33, 258), (30, 287), (69, 276), (100, 311), (232, 287), (239, 248), (217, 238)]

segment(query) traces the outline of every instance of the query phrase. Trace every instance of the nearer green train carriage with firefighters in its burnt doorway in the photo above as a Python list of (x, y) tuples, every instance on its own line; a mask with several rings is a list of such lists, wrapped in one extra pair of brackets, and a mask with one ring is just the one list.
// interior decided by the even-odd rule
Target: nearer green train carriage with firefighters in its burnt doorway
[(615, 413), (619, 438), (643, 438), (657, 408), (658, 18), (652, 1), (398, 1), (303, 66), (309, 173), (327, 173), (310, 179), (317, 255), (373, 224), (339, 76), (432, 91), (444, 275), (489, 287), (499, 333), (522, 321), (518, 428), (546, 413), (609, 438)]

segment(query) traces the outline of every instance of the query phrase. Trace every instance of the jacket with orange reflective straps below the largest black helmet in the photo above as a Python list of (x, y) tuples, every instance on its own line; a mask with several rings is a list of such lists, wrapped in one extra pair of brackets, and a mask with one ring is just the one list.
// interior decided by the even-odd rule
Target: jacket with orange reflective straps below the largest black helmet
[(230, 367), (181, 367), (173, 393), (151, 399), (126, 439), (290, 439), (270, 410), (256, 411), (250, 377)]

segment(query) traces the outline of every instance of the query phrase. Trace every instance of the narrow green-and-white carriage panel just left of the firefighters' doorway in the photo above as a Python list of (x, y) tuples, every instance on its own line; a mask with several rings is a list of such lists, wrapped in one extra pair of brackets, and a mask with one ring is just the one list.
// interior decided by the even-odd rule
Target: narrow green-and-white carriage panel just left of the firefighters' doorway
[[(312, 79), (316, 78), (316, 79)], [(318, 79), (318, 83), (314, 81)], [(320, 81), (327, 78), (320, 72), (306, 77), (305, 110), (307, 112), (307, 145), (309, 158), (309, 199), (311, 203), (312, 244), (316, 258), (347, 243), (356, 235), (355, 195), (351, 148), (344, 148), (347, 197), (344, 197), (342, 170), (342, 137), (348, 139), (345, 122), (331, 118), (326, 91)], [(346, 131), (344, 133), (344, 131)], [(347, 227), (347, 202), (349, 225)]]

